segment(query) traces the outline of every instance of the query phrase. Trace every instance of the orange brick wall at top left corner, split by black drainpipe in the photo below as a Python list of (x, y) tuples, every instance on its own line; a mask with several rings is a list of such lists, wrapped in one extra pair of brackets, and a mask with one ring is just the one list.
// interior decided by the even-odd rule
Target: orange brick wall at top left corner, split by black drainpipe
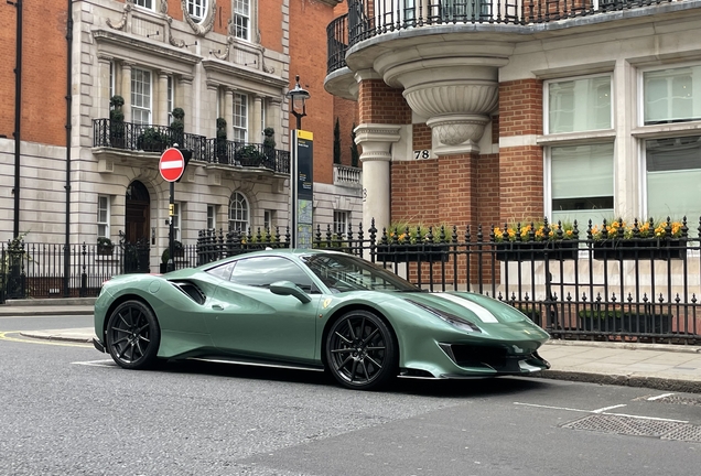
[[(22, 2), (21, 139), (66, 143), (66, 4)], [(14, 131), (17, 8), (3, 6), (0, 20), (0, 134)], [(79, 34), (78, 31), (74, 32)], [(50, 80), (46, 80), (51, 78)]]

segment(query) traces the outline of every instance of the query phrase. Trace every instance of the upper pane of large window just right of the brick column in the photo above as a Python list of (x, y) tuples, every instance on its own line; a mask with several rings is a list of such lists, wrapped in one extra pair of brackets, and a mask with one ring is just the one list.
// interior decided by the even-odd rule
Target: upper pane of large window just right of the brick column
[(584, 132), (613, 127), (611, 75), (552, 80), (547, 88), (547, 132)]

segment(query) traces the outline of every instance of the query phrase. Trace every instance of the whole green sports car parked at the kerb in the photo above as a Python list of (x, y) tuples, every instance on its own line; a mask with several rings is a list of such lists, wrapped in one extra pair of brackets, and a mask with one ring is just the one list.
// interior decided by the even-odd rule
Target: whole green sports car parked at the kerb
[(548, 334), (494, 299), (425, 292), (350, 255), (268, 250), (107, 281), (95, 347), (142, 369), (201, 359), (326, 370), (352, 389), (395, 377), (526, 375)]

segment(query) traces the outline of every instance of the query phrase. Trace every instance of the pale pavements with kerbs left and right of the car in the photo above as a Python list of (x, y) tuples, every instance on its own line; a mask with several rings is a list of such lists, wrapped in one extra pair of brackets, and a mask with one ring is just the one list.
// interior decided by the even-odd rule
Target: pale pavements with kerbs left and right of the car
[[(13, 300), (2, 316), (93, 315), (95, 299)], [(30, 338), (91, 343), (93, 327), (24, 331)], [(539, 378), (701, 393), (701, 346), (550, 340), (539, 350), (551, 369)]]

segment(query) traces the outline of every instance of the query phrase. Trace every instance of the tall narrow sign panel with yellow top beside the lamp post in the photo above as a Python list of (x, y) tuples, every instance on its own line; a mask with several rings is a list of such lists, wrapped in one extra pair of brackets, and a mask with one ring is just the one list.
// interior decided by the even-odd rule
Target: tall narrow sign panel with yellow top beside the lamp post
[(295, 129), (292, 131), (292, 248), (312, 248), (314, 236), (314, 136)]

